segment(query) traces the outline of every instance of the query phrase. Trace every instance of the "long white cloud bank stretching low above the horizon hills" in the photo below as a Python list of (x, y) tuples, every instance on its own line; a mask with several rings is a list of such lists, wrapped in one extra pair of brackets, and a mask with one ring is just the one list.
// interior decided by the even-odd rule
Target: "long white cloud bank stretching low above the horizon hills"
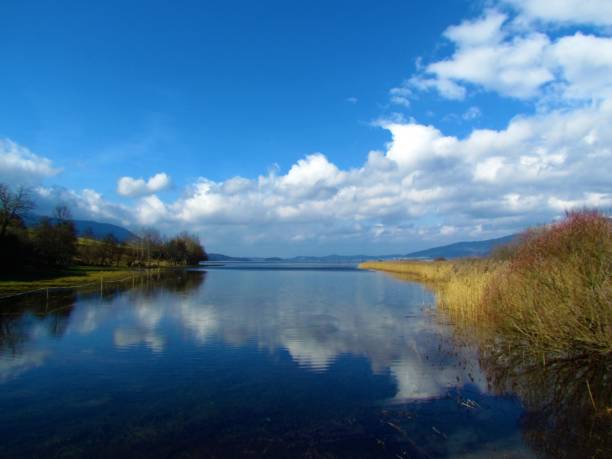
[[(242, 246), (371, 243), (508, 234), (583, 205), (612, 199), (612, 101), (519, 116), (504, 129), (447, 135), (416, 121), (389, 121), (384, 151), (341, 169), (321, 153), (281, 174), (212, 181), (181, 197), (132, 206), (93, 190), (40, 188), (97, 219), (189, 229), (207, 243)], [(211, 242), (212, 241), (212, 242)], [(231, 242), (230, 242), (231, 241)], [(407, 247), (408, 249), (408, 247)]]

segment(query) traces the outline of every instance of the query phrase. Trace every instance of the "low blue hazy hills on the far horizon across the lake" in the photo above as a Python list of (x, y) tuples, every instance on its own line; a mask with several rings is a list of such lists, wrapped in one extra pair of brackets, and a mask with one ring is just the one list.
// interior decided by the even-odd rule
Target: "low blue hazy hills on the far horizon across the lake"
[(368, 260), (396, 260), (402, 258), (462, 258), (462, 257), (485, 257), (500, 245), (508, 244), (517, 237), (516, 234), (504, 236), (486, 241), (465, 241), (455, 242), (454, 244), (432, 247), (426, 250), (419, 250), (405, 255), (325, 255), (298, 256), (292, 258), (258, 258), (258, 257), (230, 257), (220, 253), (209, 253), (208, 261), (250, 261), (250, 262), (280, 262), (280, 263), (361, 263)]

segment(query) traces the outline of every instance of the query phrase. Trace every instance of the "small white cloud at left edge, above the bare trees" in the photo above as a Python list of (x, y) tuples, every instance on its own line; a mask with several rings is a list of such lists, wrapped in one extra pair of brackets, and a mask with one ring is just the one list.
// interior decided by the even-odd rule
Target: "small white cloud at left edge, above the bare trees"
[(57, 174), (50, 159), (38, 156), (10, 139), (0, 139), (0, 182), (34, 185)]

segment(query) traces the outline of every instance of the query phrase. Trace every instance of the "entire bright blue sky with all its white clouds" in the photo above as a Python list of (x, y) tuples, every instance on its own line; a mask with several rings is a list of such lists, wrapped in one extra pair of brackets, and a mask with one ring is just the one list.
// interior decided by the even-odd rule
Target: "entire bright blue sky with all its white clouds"
[(612, 0), (0, 5), (0, 183), (243, 256), (612, 208)]

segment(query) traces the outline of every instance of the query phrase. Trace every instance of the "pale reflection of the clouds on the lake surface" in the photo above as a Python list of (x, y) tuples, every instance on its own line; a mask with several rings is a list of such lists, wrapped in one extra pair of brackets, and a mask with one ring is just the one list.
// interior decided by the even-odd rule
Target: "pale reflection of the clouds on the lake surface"
[(144, 345), (156, 353), (172, 346), (170, 330), (181, 330), (179, 336), (199, 346), (218, 340), (285, 350), (300, 367), (318, 372), (342, 356), (363, 357), (375, 374), (393, 377), (396, 400), (435, 398), (465, 383), (486, 388), (473, 356), (451, 356), (441, 345), (449, 330), (424, 314), (432, 298), (419, 285), (355, 272), (307, 273), (306, 280), (285, 272), (208, 276), (205, 288), (124, 294), (104, 307), (83, 302), (68, 330), (93, 332), (112, 320), (115, 346)]

